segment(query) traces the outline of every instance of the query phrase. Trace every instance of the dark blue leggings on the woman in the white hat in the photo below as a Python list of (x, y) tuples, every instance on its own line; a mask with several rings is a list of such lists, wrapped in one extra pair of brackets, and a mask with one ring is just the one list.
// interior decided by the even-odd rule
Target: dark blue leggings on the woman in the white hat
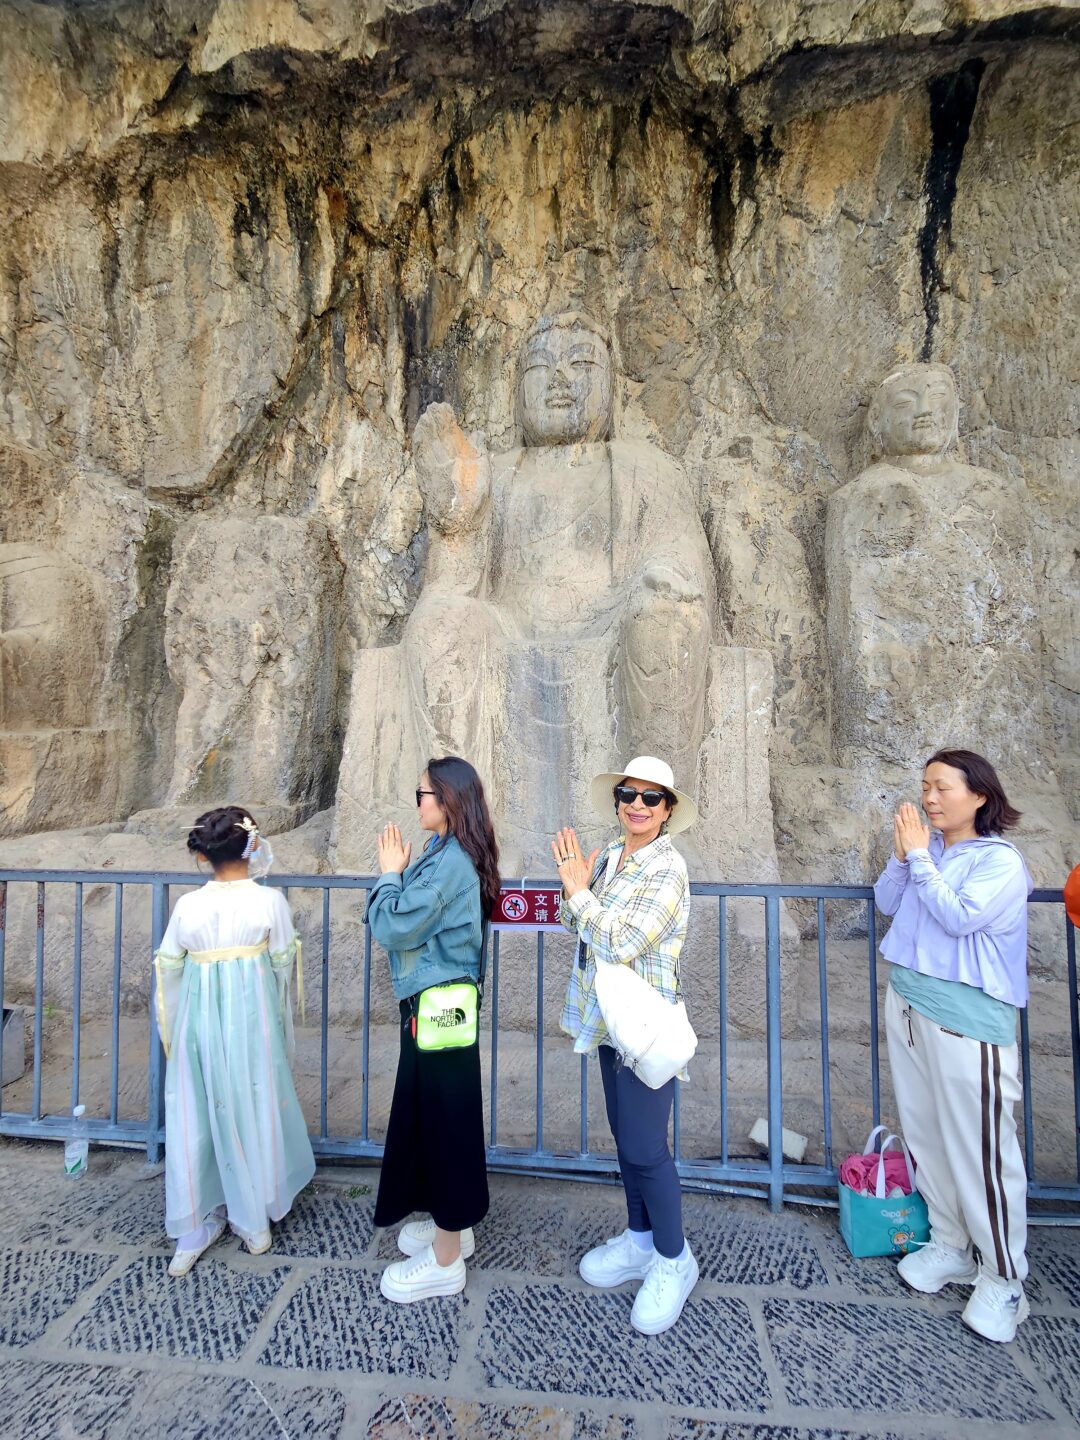
[(668, 1149), (668, 1117), (678, 1080), (649, 1090), (600, 1045), (600, 1079), (608, 1125), (619, 1153), (629, 1228), (652, 1231), (652, 1244), (668, 1260), (683, 1254), (683, 1194)]

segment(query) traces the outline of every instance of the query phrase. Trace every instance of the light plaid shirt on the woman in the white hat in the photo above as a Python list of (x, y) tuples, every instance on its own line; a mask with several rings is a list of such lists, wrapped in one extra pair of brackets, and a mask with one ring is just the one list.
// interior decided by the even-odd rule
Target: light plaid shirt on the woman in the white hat
[(575, 959), (560, 1027), (575, 1051), (589, 1054), (608, 1040), (596, 1004), (596, 962), (632, 965), (670, 1001), (683, 998), (678, 956), (690, 920), (687, 864), (667, 835), (628, 855), (605, 883), (608, 861), (622, 850), (615, 840), (598, 855), (588, 890), (563, 897), (559, 919), (585, 943), (585, 968)]

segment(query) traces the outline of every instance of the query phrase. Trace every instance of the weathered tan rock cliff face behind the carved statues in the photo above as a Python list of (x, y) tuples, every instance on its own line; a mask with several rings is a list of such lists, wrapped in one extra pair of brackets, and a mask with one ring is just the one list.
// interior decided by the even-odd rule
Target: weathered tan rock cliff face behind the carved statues
[[(1002, 756), (1058, 878), (1074, 4), (6, 0), (0, 24), (0, 827), (42, 837), (12, 860), (137, 815), (134, 847), (174, 829), (138, 812), (204, 801), (282, 827), (333, 805), (359, 655), (425, 588), (413, 428), (448, 402), (513, 449), (521, 338), (580, 308), (611, 336), (615, 433), (690, 480), (723, 642), (770, 657), (759, 854), (789, 878), (863, 878), (917, 779), (919, 687), (851, 720), (827, 510), (874, 458), (878, 382), (953, 369), (959, 461), (1021, 497), (1030, 706), (1014, 734), (972, 701), (939, 739)], [(992, 492), (965, 500), (985, 544)], [(1012, 631), (965, 632), (963, 520), (922, 503), (917, 590), (940, 562), (942, 647), (989, 647), (978, 685)], [(858, 569), (848, 629), (904, 609), (899, 573)]]

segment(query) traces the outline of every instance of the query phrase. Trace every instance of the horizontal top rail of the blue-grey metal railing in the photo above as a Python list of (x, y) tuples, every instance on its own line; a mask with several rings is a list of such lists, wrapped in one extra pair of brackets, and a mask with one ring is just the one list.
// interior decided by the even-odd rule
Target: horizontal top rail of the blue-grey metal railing
[[(37, 881), (48, 884), (121, 884), (121, 886), (200, 886), (207, 876), (190, 870), (0, 870), (0, 883), (7, 881)], [(379, 876), (357, 874), (275, 874), (269, 877), (269, 884), (289, 890), (370, 890)], [(534, 877), (504, 877), (503, 888), (507, 890), (554, 890), (559, 878), (550, 880)], [(873, 886), (837, 886), (837, 884), (726, 884), (714, 880), (691, 880), (690, 893), (694, 896), (757, 896), (776, 897), (779, 900), (873, 900)], [(1061, 891), (1056, 888), (1032, 890), (1028, 900), (1040, 904), (1060, 904)]]

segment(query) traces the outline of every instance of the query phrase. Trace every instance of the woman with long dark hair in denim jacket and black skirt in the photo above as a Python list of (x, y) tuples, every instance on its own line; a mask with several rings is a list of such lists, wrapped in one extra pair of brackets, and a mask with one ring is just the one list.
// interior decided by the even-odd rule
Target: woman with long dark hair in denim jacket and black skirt
[(374, 1207), (376, 1225), (396, 1225), (409, 1256), (383, 1272), (387, 1300), (409, 1303), (465, 1287), (472, 1225), (488, 1210), (480, 1040), (456, 1050), (420, 1050), (416, 1001), (431, 985), (480, 978), (484, 922), (498, 899), (498, 845), (484, 786), (455, 755), (429, 760), (416, 789), (431, 840), (409, 863), (396, 825), (379, 837), (379, 880), (367, 901), (373, 937), (390, 959), (400, 1004), (397, 1079)]

